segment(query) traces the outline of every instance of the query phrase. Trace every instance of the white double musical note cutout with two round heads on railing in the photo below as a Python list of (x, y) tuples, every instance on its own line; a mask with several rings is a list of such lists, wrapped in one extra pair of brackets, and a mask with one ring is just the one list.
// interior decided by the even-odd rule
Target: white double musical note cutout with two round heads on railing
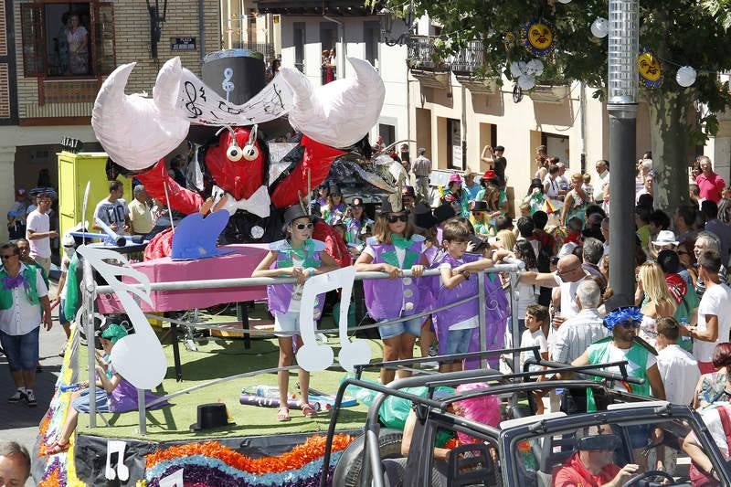
[(314, 303), (318, 294), (342, 289), (340, 294), (340, 319), (338, 335), (340, 336), (340, 354), (338, 362), (348, 372), (354, 372), (355, 365), (367, 364), (371, 360), (370, 346), (364, 340), (351, 342), (348, 337), (348, 309), (353, 293), (355, 268), (353, 266), (333, 270), (311, 277), (302, 287), (302, 307), (300, 309), (300, 334), (302, 346), (297, 351), (297, 364), (308, 372), (318, 372), (333, 365), (333, 348), (326, 344), (318, 344), (314, 331)]

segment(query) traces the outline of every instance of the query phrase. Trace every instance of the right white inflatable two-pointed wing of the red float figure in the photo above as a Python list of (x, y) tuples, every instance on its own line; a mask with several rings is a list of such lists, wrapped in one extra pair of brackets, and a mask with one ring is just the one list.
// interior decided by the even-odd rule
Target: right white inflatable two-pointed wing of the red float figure
[(317, 88), (297, 69), (280, 70), (294, 91), (291, 126), (332, 147), (347, 147), (361, 140), (378, 121), (386, 98), (383, 80), (368, 61), (348, 61), (354, 78), (337, 79)]

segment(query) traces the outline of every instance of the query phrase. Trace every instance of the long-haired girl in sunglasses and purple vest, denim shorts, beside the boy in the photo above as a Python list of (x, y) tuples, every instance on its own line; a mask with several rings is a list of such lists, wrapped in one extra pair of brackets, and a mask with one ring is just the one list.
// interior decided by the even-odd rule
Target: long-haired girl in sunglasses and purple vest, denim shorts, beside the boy
[[(389, 280), (363, 282), (365, 307), (376, 322), (387, 322), (421, 312), (419, 280), (427, 263), (424, 255), (424, 238), (414, 235), (408, 214), (400, 207), (394, 208), (386, 201), (376, 221), (373, 238), (355, 261), (359, 272), (386, 272)], [(402, 270), (410, 269), (413, 278), (398, 279)], [(385, 361), (413, 358), (414, 343), (421, 333), (421, 318), (387, 324), (378, 328), (384, 343)], [(409, 376), (399, 372), (399, 376)], [(381, 383), (394, 380), (395, 371), (381, 369)]]

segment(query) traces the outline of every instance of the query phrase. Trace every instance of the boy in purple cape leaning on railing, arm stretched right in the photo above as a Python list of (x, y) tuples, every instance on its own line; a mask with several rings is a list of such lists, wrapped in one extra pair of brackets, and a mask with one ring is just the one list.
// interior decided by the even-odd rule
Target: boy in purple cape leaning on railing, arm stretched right
[[(444, 225), (442, 246), (446, 250), (432, 267), (440, 269), (440, 288), (436, 307), (441, 308), (478, 293), (477, 276), (474, 272), (493, 267), (493, 260), (478, 254), (466, 253), (472, 237), (469, 223), (451, 220)], [(507, 255), (507, 251), (503, 251)], [(496, 256), (501, 259), (503, 256)], [(439, 338), (440, 355), (464, 354), (474, 351), (472, 342), (479, 334), (478, 300), (471, 300), (445, 311), (435, 313), (435, 327)], [(479, 347), (478, 347), (479, 349)], [(442, 363), (440, 372), (462, 369), (461, 361)]]

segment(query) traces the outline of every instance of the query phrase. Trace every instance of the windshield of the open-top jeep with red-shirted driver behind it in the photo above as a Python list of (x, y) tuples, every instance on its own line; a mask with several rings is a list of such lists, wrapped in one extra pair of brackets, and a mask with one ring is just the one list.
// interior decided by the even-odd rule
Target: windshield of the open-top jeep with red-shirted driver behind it
[(667, 483), (689, 482), (689, 461), (682, 450), (683, 439), (692, 430), (688, 421), (647, 418), (585, 424), (513, 439), (509, 451), (515, 485), (602, 485), (612, 481), (621, 485), (655, 470), (673, 478), (674, 482), (665, 478)]

